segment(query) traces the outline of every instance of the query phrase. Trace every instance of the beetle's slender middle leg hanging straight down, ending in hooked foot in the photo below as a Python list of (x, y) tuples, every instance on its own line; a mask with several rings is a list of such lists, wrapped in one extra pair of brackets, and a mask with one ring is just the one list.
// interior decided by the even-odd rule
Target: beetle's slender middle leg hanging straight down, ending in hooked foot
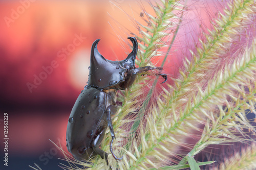
[(110, 152), (112, 153), (113, 157), (116, 159), (116, 160), (121, 160), (123, 159), (123, 157), (121, 158), (118, 158), (114, 152), (113, 152), (113, 149), (112, 149), (112, 144), (113, 144), (113, 140), (115, 137), (115, 132), (114, 132), (114, 129), (113, 129), (113, 125), (112, 125), (112, 120), (111, 120), (111, 114), (114, 114), (115, 112), (112, 112), (112, 111), (117, 111), (118, 107), (117, 106), (109, 106), (108, 108), (106, 108), (106, 121), (108, 122), (108, 126), (110, 128), (110, 133), (111, 133), (111, 136), (112, 136), (112, 140), (110, 142)]

